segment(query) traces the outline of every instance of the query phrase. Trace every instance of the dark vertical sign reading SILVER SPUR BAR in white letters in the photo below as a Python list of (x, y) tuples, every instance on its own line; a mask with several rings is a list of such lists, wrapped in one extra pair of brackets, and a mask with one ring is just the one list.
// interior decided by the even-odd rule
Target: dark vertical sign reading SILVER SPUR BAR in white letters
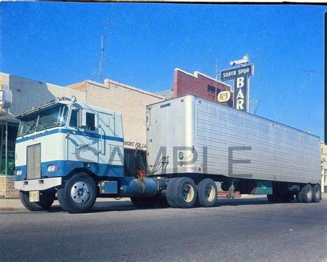
[(254, 66), (241, 66), (230, 68), (220, 72), (221, 81), (234, 80), (234, 108), (248, 112), (249, 101), (249, 77), (252, 77)]

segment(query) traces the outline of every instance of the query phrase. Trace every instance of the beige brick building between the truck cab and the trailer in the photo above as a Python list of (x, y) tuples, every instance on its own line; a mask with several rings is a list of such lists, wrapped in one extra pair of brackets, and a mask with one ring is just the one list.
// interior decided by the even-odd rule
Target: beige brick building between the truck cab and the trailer
[(67, 88), (84, 92), (88, 104), (120, 112), (125, 148), (146, 150), (146, 105), (164, 97), (110, 79), (104, 82), (85, 80)]

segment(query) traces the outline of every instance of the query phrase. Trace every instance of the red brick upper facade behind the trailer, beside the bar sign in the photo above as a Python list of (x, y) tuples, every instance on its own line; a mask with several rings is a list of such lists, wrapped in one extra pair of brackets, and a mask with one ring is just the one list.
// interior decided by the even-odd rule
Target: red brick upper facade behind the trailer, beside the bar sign
[[(211, 94), (208, 92), (208, 85), (211, 85), (213, 88), (216, 88), (216, 81), (210, 77), (207, 77), (204, 74), (199, 72), (195, 72), (195, 74), (189, 74), (178, 68), (175, 69), (174, 72), (174, 97), (183, 97), (188, 94), (195, 95), (197, 97), (201, 97), (204, 99), (208, 99), (211, 101), (217, 101), (217, 94), (221, 90), (230, 91), (230, 87), (228, 85), (224, 85), (217, 81), (217, 92), (216, 94)], [(232, 106), (232, 95), (230, 101), (227, 103), (222, 103), (224, 105)]]

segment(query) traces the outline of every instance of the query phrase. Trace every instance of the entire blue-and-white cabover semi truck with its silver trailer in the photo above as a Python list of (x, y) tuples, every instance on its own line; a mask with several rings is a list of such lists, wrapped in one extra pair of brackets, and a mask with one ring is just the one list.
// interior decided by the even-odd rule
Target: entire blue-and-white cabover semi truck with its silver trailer
[(31, 211), (58, 199), (67, 212), (89, 212), (97, 197), (212, 207), (218, 182), (230, 198), (321, 199), (319, 137), (192, 95), (146, 107), (146, 158), (135, 151), (135, 161), (124, 159), (119, 112), (72, 97), (17, 119), (14, 187)]

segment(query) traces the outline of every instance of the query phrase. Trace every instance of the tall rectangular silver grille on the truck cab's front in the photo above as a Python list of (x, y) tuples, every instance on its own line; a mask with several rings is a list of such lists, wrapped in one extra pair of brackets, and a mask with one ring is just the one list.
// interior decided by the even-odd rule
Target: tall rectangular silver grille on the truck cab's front
[(41, 143), (27, 148), (27, 179), (41, 179)]

